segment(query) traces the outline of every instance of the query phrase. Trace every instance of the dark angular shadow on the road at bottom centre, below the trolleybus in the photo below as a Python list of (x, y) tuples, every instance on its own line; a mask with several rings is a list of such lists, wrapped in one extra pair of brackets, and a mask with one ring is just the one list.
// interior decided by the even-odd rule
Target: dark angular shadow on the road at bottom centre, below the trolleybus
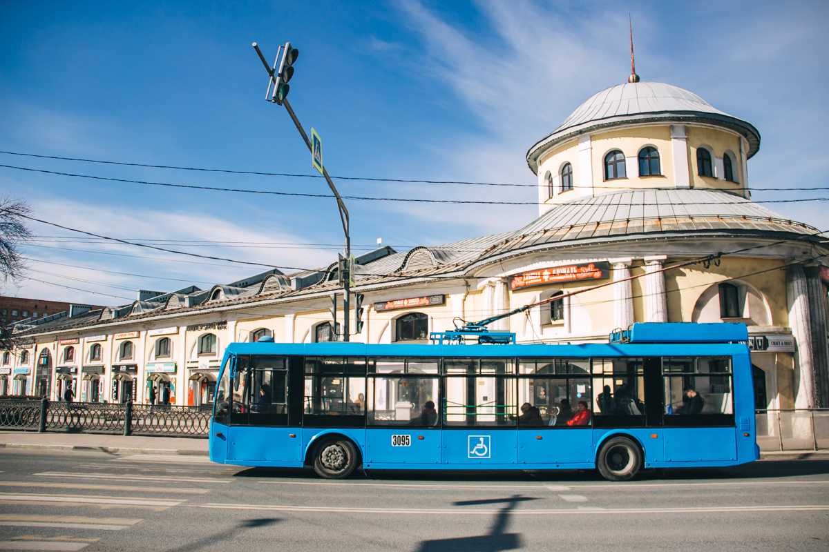
[(510, 523), (510, 511), (519, 502), (538, 500), (533, 497), (513, 495), (510, 498), (490, 500), (471, 500), (453, 502), (453, 506), (482, 506), (486, 504), (504, 504), (495, 516), (495, 521), (487, 535), (462, 536), (454, 539), (422, 540), (418, 552), (497, 552), (498, 550), (516, 550), (521, 548), (521, 534), (505, 533)]

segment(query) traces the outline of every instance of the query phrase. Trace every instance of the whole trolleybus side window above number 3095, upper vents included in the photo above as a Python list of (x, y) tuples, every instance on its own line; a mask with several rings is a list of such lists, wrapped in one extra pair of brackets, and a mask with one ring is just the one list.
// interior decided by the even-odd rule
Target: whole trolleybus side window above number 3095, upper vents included
[(439, 426), (437, 358), (369, 358), (370, 425)]

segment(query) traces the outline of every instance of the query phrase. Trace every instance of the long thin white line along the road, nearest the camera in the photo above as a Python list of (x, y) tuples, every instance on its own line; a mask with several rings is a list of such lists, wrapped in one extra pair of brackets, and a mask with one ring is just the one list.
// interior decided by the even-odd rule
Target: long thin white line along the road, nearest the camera
[[(216, 508), (230, 510), (270, 510), (270, 511), (310, 511), (327, 513), (350, 513), (350, 514), (415, 514), (427, 515), (438, 514), (440, 516), (492, 516), (501, 513), (501, 510), (463, 510), (435, 509), (435, 508), (355, 508), (348, 506), (279, 506), (271, 504), (185, 504), (191, 508)], [(580, 508), (576, 510), (512, 510), (511, 516), (557, 516), (573, 514), (697, 514), (697, 513), (725, 513), (725, 512), (765, 512), (765, 511), (829, 511), (827, 505), (803, 505), (803, 506), (703, 506), (703, 507), (681, 507), (681, 508)]]

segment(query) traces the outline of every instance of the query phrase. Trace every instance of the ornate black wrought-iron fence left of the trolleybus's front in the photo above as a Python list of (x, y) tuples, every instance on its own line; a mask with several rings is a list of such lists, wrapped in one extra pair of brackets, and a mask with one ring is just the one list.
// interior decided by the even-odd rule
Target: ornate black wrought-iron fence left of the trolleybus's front
[(211, 406), (0, 400), (0, 429), (206, 438)]

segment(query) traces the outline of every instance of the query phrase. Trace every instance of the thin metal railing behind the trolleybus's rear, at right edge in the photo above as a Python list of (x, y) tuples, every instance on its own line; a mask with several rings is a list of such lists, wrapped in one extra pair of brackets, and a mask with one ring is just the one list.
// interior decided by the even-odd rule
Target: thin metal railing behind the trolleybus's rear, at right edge
[(829, 449), (829, 408), (756, 410), (763, 451)]

